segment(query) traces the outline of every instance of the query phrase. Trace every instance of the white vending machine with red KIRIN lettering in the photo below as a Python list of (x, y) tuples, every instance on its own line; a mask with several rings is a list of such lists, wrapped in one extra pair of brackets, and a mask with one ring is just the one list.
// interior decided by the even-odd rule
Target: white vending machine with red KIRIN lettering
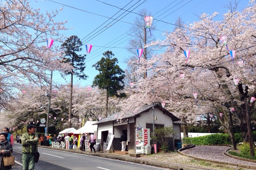
[(135, 134), (135, 136), (136, 136), (136, 153), (151, 154), (150, 129), (143, 129), (143, 128), (138, 127), (136, 129), (135, 133), (136, 133)]

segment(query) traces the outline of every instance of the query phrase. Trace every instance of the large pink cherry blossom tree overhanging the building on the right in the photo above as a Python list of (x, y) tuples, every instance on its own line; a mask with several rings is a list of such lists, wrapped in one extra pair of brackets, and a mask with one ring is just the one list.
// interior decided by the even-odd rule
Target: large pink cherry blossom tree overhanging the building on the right
[[(251, 1), (242, 12), (224, 14), (222, 21), (214, 20), (218, 13), (201, 14), (199, 21), (166, 32), (164, 40), (148, 45), (165, 52), (141, 61), (134, 74), (138, 78), (136, 88), (126, 103), (121, 104), (124, 113), (144, 104), (165, 102), (170, 112), (185, 120), (197, 121), (198, 114), (214, 113), (230, 134), (228, 114), (233, 107), (243, 139), (248, 141), (244, 115), (247, 112), (251, 118), (254, 113), (250, 98), (255, 97), (255, 8), (255, 1)], [(224, 35), (229, 50), (220, 40)], [(190, 51), (187, 61), (185, 50)], [(236, 50), (233, 60), (230, 50)], [(239, 67), (237, 62), (242, 60), (243, 67)], [(139, 77), (145, 71), (144, 66), (149, 70), (145, 80)], [(181, 73), (185, 74), (184, 80)], [(240, 80), (237, 85), (236, 78)], [(222, 118), (219, 113), (223, 113)]]

